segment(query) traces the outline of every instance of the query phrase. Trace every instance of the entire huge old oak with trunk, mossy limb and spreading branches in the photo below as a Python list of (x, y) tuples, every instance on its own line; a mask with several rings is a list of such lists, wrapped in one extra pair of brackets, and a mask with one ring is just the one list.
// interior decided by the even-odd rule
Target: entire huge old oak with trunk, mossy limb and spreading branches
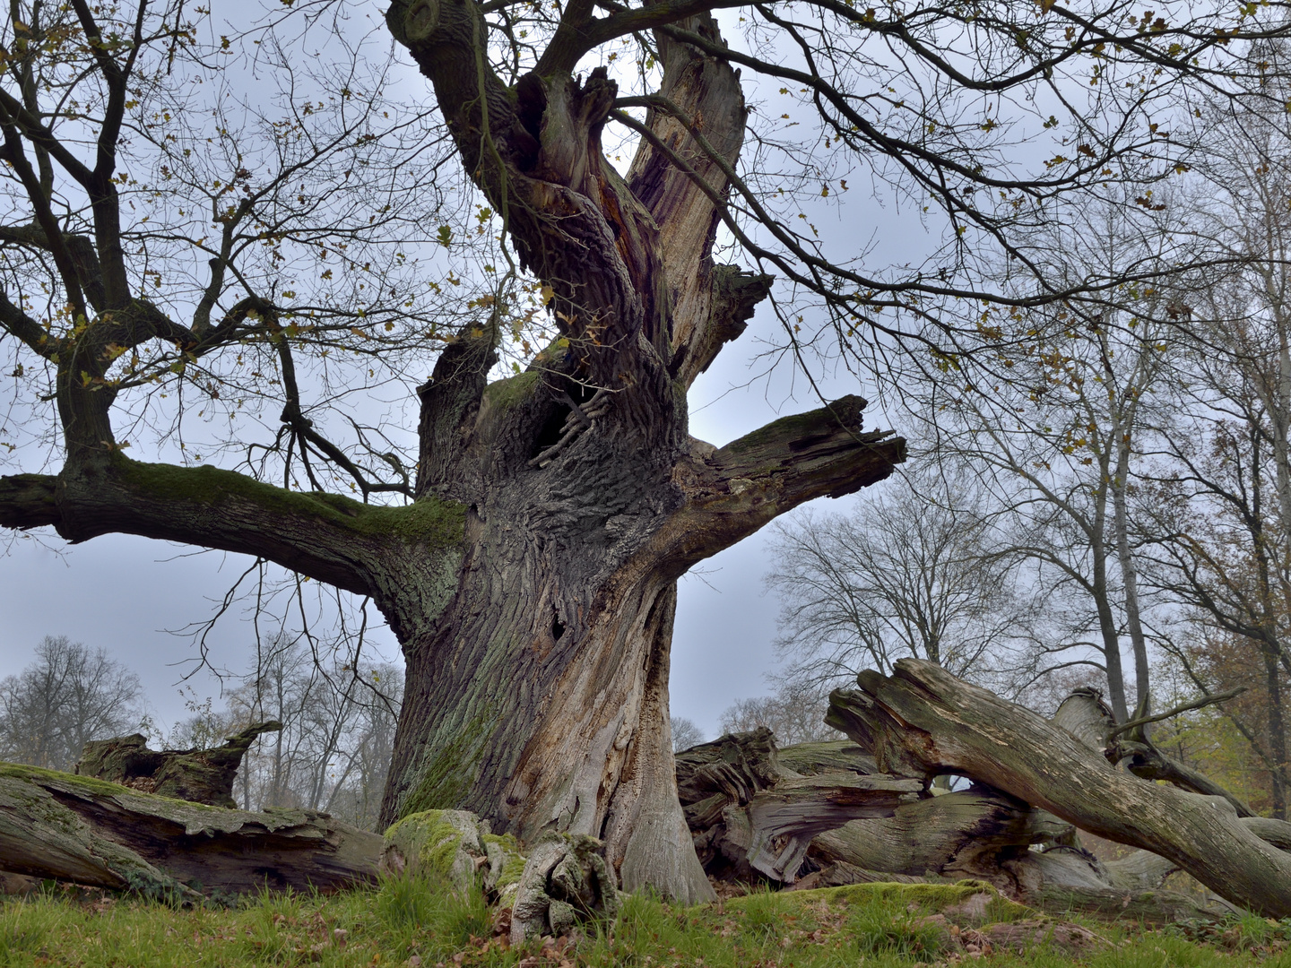
[[(25, 422), (4, 425), (0, 524), (223, 549), (369, 598), (408, 670), (386, 820), (591, 834), (625, 888), (686, 901), (711, 889), (669, 736), (676, 580), (904, 458), (859, 396), (696, 440), (696, 377), (768, 296), (781, 350), (949, 374), (990, 339), (982, 299), (1025, 312), (1155, 272), (1053, 284), (1029, 230), (1186, 170), (1198, 146), (1162, 121), (1195, 85), (1235, 97), (1259, 76), (1235, 48), (1285, 30), (1205, 5), (1144, 25), (398, 0), (364, 35), (338, 0), (290, 6), (12, 6), (0, 338)], [(387, 93), (409, 58), (420, 106)], [(806, 134), (768, 121), (745, 150), (750, 83)], [(838, 201), (852, 166), (928, 213), (927, 259), (815, 227), (807, 199)], [(476, 276), (436, 247), (482, 256)], [(994, 289), (1006, 258), (1026, 281)], [(391, 382), (420, 383), (409, 447), (372, 416)]]

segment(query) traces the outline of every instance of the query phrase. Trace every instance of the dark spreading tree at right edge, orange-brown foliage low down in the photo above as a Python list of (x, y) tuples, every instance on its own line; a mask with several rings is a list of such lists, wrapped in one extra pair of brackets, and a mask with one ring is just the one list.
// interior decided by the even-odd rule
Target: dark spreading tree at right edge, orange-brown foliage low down
[(1180, 408), (1149, 490), (1149, 580), (1184, 609), (1162, 643), (1194, 687), (1250, 689), (1224, 712), (1263, 761), (1270, 809), (1285, 818), (1291, 521), (1278, 499), (1281, 418), (1268, 390), (1279, 350), (1268, 323), (1234, 312), (1176, 377)]

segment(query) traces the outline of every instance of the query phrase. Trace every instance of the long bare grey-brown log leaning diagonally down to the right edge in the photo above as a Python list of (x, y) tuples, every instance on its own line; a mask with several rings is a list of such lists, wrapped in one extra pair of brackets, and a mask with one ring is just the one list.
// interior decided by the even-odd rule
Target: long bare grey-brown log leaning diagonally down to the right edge
[(1152, 851), (1221, 897), (1291, 915), (1291, 854), (1260, 839), (1215, 798), (1115, 771), (1066, 729), (919, 660), (862, 672), (837, 691), (828, 721), (882, 769), (931, 780), (958, 773), (1099, 836)]

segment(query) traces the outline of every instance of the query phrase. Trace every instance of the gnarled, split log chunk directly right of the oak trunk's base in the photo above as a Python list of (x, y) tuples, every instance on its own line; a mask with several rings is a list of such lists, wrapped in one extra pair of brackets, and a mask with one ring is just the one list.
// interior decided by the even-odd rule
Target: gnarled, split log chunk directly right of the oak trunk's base
[(813, 746), (822, 749), (791, 758), (807, 776), (786, 765), (766, 728), (678, 754), (678, 792), (706, 871), (757, 870), (791, 884), (816, 834), (859, 817), (889, 817), (923, 791), (919, 780), (868, 769), (849, 743)]

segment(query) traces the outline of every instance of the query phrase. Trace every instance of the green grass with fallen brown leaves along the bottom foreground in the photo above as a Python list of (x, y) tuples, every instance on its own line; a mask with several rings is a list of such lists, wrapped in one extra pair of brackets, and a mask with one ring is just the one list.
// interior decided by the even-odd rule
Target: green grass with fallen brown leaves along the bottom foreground
[[(913, 968), (972, 962), (949, 942), (945, 923), (939, 927), (935, 898), (895, 885), (865, 887), (760, 891), (688, 909), (634, 894), (615, 924), (569, 949), (550, 940), (546, 947), (541, 941), (510, 947), (492, 937), (492, 913), (480, 893), (458, 897), (416, 879), (330, 897), (266, 892), (226, 909), (174, 909), (50, 888), (0, 902), (0, 968)], [(999, 902), (981, 920), (1024, 915), (1035, 918)], [(1090, 968), (1291, 968), (1291, 922), (1247, 916), (1164, 931), (1084, 924), (1105, 942), (1079, 959)], [(1059, 968), (1073, 958), (1042, 943), (1024, 955), (988, 953), (980, 963)]]

